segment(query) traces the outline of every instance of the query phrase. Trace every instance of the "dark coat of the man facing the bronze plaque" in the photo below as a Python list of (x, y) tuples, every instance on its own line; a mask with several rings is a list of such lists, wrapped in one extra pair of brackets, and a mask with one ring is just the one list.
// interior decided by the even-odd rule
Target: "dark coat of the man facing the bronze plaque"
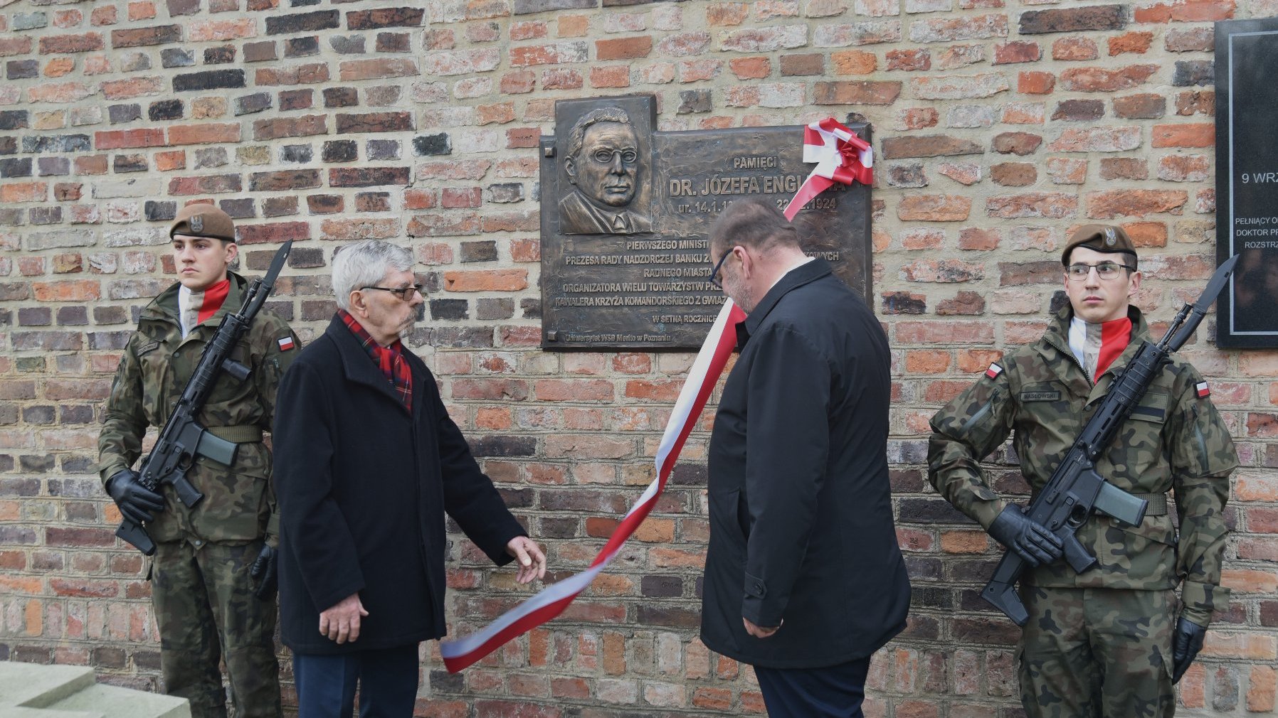
[[(711, 436), (702, 640), (769, 668), (864, 658), (910, 606), (887, 470), (887, 337), (814, 259), (763, 296), (737, 340)], [(781, 629), (757, 639), (743, 617)]]

